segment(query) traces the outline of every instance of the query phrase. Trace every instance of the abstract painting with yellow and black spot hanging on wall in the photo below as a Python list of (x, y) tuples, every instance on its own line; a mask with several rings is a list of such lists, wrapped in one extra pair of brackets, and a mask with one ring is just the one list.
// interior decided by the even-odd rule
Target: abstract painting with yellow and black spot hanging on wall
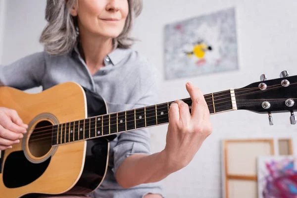
[(238, 69), (235, 8), (165, 25), (165, 79)]

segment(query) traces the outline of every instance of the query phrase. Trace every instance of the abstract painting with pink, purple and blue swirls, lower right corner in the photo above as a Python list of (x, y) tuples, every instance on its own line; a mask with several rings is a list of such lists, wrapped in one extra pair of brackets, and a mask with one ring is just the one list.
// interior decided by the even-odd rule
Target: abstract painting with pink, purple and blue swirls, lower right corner
[(258, 198), (297, 198), (297, 157), (258, 157)]

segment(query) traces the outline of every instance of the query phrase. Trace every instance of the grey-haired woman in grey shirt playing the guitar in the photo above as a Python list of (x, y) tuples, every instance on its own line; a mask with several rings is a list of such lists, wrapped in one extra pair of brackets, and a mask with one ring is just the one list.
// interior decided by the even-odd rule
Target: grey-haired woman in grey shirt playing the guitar
[[(45, 51), (0, 67), (0, 83), (25, 90), (74, 81), (106, 99), (110, 112), (157, 103), (157, 71), (128, 37), (141, 0), (48, 0)], [(17, 78), (15, 78), (17, 76)], [(166, 147), (151, 154), (147, 129), (118, 135), (110, 145), (106, 177), (93, 198), (161, 198), (158, 183), (185, 167), (212, 131), (203, 95), (191, 83), (193, 102), (170, 105)], [(12, 148), (26, 133), (13, 109), (0, 107), (0, 149)]]

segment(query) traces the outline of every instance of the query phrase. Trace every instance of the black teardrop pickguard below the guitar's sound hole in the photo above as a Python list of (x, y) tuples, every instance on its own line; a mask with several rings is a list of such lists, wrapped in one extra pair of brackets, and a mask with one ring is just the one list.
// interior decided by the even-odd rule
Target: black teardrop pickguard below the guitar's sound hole
[(3, 167), (3, 183), (6, 188), (19, 188), (38, 179), (48, 168), (50, 157), (41, 163), (31, 163), (24, 151), (10, 153)]

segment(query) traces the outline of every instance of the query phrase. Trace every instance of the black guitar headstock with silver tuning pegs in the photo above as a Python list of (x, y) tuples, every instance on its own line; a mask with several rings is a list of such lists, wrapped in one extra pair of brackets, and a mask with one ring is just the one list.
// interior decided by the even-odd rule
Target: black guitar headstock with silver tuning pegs
[(297, 123), (294, 115), (297, 109), (297, 76), (289, 77), (287, 71), (282, 71), (280, 78), (267, 80), (262, 74), (259, 82), (234, 91), (238, 109), (268, 113), (270, 125), (273, 125), (271, 113), (290, 112), (291, 124)]

